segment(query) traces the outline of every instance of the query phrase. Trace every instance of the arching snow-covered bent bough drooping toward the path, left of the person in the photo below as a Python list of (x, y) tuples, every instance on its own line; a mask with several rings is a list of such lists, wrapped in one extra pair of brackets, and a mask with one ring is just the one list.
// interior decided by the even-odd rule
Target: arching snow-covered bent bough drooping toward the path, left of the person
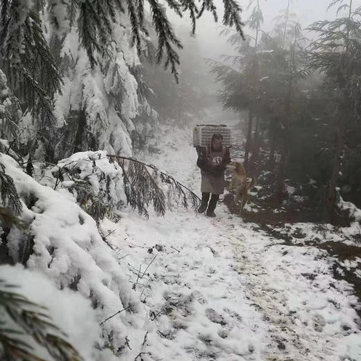
[(149, 217), (150, 205), (156, 215), (165, 215), (172, 203), (185, 208), (198, 205), (193, 192), (153, 165), (107, 156), (105, 151), (75, 153), (61, 160), (53, 174), (97, 223), (106, 215), (116, 215), (125, 205), (145, 217)]

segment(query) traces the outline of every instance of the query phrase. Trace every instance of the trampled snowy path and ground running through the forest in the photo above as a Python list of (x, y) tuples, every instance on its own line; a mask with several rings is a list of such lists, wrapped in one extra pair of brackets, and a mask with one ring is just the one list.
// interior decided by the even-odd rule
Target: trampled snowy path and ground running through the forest
[[(153, 144), (158, 154), (137, 158), (199, 193), (190, 131), (174, 129)], [(135, 289), (155, 322), (144, 360), (360, 361), (361, 256), (347, 229), (255, 223), (230, 208), (221, 203), (215, 219), (176, 207), (149, 220), (122, 212), (108, 240), (129, 278), (145, 275)]]

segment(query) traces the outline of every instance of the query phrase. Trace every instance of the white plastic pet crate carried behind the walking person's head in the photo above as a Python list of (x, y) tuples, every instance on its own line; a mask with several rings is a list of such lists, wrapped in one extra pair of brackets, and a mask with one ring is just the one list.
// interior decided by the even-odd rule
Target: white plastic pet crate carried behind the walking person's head
[(212, 135), (215, 133), (223, 135), (224, 146), (232, 146), (230, 128), (224, 124), (197, 124), (193, 130), (193, 146), (208, 146), (212, 140)]

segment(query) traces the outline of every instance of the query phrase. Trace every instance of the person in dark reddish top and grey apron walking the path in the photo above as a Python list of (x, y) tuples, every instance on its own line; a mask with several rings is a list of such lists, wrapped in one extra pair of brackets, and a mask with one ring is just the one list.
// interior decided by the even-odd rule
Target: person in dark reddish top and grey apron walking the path
[[(224, 171), (230, 162), (229, 149), (222, 144), (223, 136), (219, 133), (212, 135), (208, 146), (197, 146), (198, 160), (196, 165), (201, 168), (202, 203), (198, 212), (207, 210), (208, 217), (216, 217), (215, 208), (219, 194), (224, 192)], [(212, 196), (210, 197), (210, 194)], [(208, 203), (209, 202), (209, 203)], [(208, 207), (208, 209), (207, 209)]]

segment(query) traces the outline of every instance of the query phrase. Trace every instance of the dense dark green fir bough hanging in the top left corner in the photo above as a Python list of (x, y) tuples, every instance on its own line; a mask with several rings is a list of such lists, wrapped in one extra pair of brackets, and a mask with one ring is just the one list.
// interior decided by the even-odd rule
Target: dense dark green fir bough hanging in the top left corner
[(8, 69), (12, 92), (34, 117), (53, 119), (51, 98), (60, 92), (61, 75), (44, 38), (38, 12), (27, 3), (7, 1), (1, 7), (0, 57)]

